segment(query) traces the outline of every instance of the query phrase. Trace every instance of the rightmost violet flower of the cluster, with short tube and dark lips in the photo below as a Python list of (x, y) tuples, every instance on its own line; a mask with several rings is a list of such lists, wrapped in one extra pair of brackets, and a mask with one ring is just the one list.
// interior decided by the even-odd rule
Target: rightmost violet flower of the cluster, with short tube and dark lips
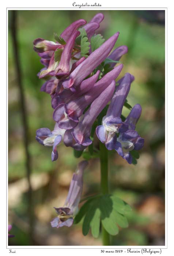
[(129, 164), (132, 163), (132, 155), (130, 151), (140, 150), (144, 146), (144, 139), (141, 138), (139, 134), (135, 131), (135, 125), (139, 120), (140, 115), (141, 106), (139, 104), (136, 104), (125, 120), (125, 123), (129, 125), (129, 129), (131, 130), (120, 133), (116, 142), (115, 150)]

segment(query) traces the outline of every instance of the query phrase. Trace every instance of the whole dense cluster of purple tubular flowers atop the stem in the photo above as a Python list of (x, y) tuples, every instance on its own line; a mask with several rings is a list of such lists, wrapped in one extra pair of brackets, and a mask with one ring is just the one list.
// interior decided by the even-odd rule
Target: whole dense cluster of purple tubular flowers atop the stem
[[(96, 128), (99, 140), (128, 163), (132, 163), (130, 151), (143, 147), (144, 139), (135, 131), (141, 106), (135, 105), (124, 122), (121, 119), (134, 77), (126, 73), (115, 82), (123, 68), (115, 64), (128, 48), (123, 45), (110, 53), (119, 32), (104, 42), (101, 35), (95, 34), (103, 18), (99, 13), (89, 23), (84, 19), (73, 22), (60, 36), (54, 35), (56, 42), (42, 38), (34, 41), (34, 50), (45, 66), (38, 74), (46, 80), (41, 91), (51, 96), (56, 122), (53, 131), (38, 129), (36, 139), (43, 146), (53, 147), (52, 161), (58, 158), (57, 146), (62, 141), (75, 150), (84, 150), (92, 143), (92, 125), (109, 102), (106, 116)], [(59, 209), (57, 212), (60, 214)], [(69, 210), (65, 213), (69, 214)], [(59, 225), (57, 219), (55, 225)]]

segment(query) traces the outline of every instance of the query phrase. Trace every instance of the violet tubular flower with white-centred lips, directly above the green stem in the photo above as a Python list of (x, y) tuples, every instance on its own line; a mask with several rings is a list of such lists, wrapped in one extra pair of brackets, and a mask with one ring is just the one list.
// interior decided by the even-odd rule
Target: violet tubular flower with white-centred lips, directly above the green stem
[(108, 150), (115, 149), (117, 133), (126, 132), (128, 130), (128, 124), (123, 123), (120, 116), (131, 87), (131, 74), (126, 73), (125, 76), (118, 81), (118, 84), (106, 116), (103, 117), (102, 125), (96, 128), (96, 134), (99, 140), (105, 143)]

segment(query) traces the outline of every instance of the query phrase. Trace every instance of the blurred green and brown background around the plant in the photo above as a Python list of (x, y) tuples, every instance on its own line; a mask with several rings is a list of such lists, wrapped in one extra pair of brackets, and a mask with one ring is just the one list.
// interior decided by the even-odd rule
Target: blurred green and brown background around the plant
[[(17, 37), (22, 85), (29, 123), (32, 202), (28, 200), (23, 124), (13, 55), (11, 31), (8, 32), (8, 224), (12, 225), (9, 245), (101, 245), (101, 237), (82, 234), (81, 223), (61, 229), (51, 228), (56, 217), (53, 207), (61, 207), (67, 196), (72, 174), (80, 159), (73, 150), (58, 146), (59, 158), (51, 161), (51, 148), (35, 140), (35, 131), (54, 127), (50, 96), (40, 92), (43, 80), (37, 73), (43, 67), (33, 50), (34, 39), (54, 41), (73, 21), (87, 22), (99, 11), (17, 11)], [(133, 207), (129, 227), (112, 237), (112, 245), (164, 245), (164, 11), (102, 11), (105, 19), (97, 30), (105, 39), (120, 31), (115, 48), (127, 45), (128, 53), (121, 76), (135, 76), (128, 102), (140, 103), (143, 112), (136, 130), (145, 139), (137, 165), (129, 165), (116, 152), (109, 151), (110, 192)], [(8, 11), (9, 24), (12, 11)], [(124, 107), (123, 114), (129, 110)], [(97, 145), (96, 145), (97, 146)], [(99, 159), (90, 161), (84, 175), (83, 196), (100, 189)], [(29, 222), (32, 213), (32, 227)], [(31, 221), (31, 219), (30, 219)], [(29, 232), (32, 229), (32, 235)], [(31, 237), (32, 236), (32, 237)]]

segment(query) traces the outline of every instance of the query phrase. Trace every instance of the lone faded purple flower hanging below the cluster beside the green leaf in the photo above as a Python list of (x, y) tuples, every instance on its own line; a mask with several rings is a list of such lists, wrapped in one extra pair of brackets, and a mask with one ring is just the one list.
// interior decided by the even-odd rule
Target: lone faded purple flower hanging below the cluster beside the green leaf
[(72, 226), (73, 217), (78, 212), (78, 205), (82, 196), (83, 172), (87, 165), (87, 161), (79, 163), (77, 171), (73, 174), (64, 206), (60, 208), (54, 207), (58, 216), (50, 222), (52, 227)]

